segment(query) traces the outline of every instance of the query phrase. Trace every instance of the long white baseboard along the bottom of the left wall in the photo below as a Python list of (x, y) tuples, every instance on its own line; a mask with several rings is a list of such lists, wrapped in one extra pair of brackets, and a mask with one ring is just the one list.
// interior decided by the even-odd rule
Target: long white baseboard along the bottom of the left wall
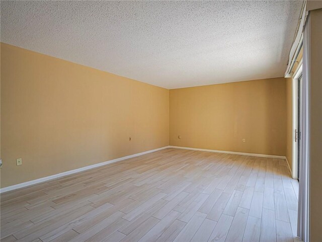
[(38, 183), (43, 183), (44, 181), (47, 181), (47, 180), (52, 180), (52, 179), (59, 178), (59, 177), (65, 176), (65, 175), (70, 175), (70, 174), (74, 174), (74, 173), (77, 173), (77, 172), (93, 169), (93, 168), (100, 167), (100, 166), (103, 166), (103, 165), (108, 165), (108, 164), (111, 164), (111, 163), (114, 163), (114, 162), (118, 162), (118, 161), (121, 161), (121, 160), (126, 160), (126, 159), (133, 158), (133, 157), (140, 156), (140, 155), (145, 155), (145, 154), (152, 153), (152, 152), (155, 152), (155, 151), (158, 151), (158, 150), (164, 150), (164, 149), (167, 149), (167, 148), (169, 148), (169, 146), (157, 148), (157, 149), (154, 149), (154, 150), (148, 150), (148, 151), (144, 151), (144, 152), (133, 154), (133, 155), (127, 155), (127, 156), (124, 156), (124, 157), (104, 161), (104, 162), (97, 163), (97, 164), (94, 164), (94, 165), (88, 165), (88, 166), (84, 166), (84, 167), (77, 168), (77, 169), (74, 169), (74, 170), (68, 170), (68, 171), (65, 171), (65, 172), (58, 173), (58, 174), (42, 177), (42, 178), (39, 178), (39, 179), (26, 181), (25, 183), (20, 183), (20, 184), (16, 184), (16, 185), (13, 185), (13, 186), (2, 188), (2, 189), (0, 189), (0, 193), (5, 193), (5, 192), (12, 191), (12, 190), (16, 190), (16, 189), (28, 187), (28, 186), (31, 186), (31, 185), (35, 185), (35, 184), (38, 184)]

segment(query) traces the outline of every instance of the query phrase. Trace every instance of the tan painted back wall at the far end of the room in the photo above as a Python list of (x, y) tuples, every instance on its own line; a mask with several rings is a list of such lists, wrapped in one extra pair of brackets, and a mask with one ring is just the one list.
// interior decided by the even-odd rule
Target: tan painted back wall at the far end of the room
[(285, 156), (285, 79), (170, 90), (170, 145)]

